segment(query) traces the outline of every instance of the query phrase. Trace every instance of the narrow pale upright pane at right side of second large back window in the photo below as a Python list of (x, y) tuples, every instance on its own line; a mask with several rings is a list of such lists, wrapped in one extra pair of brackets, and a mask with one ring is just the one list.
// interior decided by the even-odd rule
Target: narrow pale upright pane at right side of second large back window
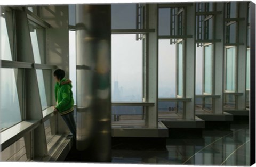
[(183, 41), (178, 43), (178, 95), (183, 97)]

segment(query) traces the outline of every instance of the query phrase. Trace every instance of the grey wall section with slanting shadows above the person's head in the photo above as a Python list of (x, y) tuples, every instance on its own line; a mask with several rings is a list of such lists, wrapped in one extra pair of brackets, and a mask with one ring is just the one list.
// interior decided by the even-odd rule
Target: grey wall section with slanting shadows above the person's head
[(69, 71), (68, 5), (42, 6), (41, 18), (51, 25), (46, 29), (47, 64)]

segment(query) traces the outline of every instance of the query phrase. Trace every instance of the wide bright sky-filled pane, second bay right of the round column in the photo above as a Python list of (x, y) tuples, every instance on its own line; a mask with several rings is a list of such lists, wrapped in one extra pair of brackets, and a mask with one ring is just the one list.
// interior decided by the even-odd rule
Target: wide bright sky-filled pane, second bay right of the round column
[(158, 97), (176, 97), (176, 47), (170, 40), (159, 40), (158, 47)]

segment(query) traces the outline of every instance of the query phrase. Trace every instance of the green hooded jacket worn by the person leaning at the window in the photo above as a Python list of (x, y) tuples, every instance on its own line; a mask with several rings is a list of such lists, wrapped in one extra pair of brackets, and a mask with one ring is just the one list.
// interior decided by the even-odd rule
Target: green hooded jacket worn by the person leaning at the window
[(60, 80), (55, 84), (55, 99), (57, 105), (55, 108), (59, 110), (60, 115), (67, 114), (74, 110), (74, 99), (72, 93), (72, 84), (61, 84), (63, 81), (67, 81), (66, 78)]

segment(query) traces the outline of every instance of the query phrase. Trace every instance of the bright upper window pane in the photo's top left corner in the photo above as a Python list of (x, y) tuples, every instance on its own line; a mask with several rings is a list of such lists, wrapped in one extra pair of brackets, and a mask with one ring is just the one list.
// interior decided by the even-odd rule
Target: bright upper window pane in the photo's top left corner
[[(2, 60), (13, 60), (13, 44), (12, 41), (12, 12), (8, 9), (1, 8), (0, 17), (0, 55)], [(7, 31), (9, 30), (9, 31)]]

